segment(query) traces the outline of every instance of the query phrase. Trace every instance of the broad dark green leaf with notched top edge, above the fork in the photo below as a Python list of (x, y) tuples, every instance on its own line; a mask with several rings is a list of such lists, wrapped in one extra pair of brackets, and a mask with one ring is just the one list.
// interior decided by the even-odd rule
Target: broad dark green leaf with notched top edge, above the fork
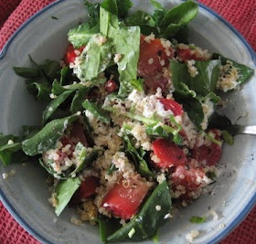
[(197, 76), (191, 77), (187, 64), (181, 64), (171, 60), (170, 69), (176, 90), (180, 89), (180, 83), (187, 84), (190, 90), (194, 90), (197, 95), (206, 96), (210, 91), (216, 90), (216, 83), (219, 79), (219, 60), (196, 61)]

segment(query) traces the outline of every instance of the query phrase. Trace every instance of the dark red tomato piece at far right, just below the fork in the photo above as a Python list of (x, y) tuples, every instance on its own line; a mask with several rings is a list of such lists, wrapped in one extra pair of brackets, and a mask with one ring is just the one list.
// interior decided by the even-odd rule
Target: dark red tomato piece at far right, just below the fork
[[(215, 139), (220, 141), (219, 131), (212, 130), (215, 134)], [(194, 147), (192, 149), (192, 157), (194, 157), (198, 163), (215, 165), (219, 161), (221, 154), (221, 146), (217, 143), (210, 143), (209, 145), (203, 144), (199, 147)]]

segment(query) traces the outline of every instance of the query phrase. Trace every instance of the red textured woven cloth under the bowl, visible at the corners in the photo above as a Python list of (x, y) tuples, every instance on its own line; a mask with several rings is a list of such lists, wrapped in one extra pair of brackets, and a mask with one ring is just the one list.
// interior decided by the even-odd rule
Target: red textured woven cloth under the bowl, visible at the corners
[[(53, 0), (0, 0), (0, 50), (20, 24), (50, 2), (53, 2)], [(256, 0), (200, 0), (198, 2), (207, 5), (219, 13), (220, 16), (226, 18), (256, 50)], [(240, 223), (240, 226), (233, 230), (221, 243), (254, 244), (256, 243), (255, 230), (256, 207)], [(1, 202), (0, 243), (38, 243), (11, 217)]]

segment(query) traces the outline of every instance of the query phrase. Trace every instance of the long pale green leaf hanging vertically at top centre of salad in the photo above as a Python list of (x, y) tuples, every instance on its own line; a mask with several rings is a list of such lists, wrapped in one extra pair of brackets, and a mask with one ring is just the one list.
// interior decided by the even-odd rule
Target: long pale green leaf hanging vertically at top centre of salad
[(113, 53), (120, 54), (118, 72), (120, 74), (119, 96), (126, 97), (133, 90), (131, 80), (137, 78), (137, 63), (140, 49), (140, 28), (119, 27), (117, 16), (100, 9), (101, 33), (112, 39)]

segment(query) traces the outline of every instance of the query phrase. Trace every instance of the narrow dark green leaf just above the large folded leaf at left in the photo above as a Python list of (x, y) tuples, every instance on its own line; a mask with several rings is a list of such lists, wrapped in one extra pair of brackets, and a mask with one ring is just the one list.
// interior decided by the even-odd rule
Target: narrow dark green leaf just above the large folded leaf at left
[(59, 108), (59, 105), (66, 101), (74, 90), (67, 90), (61, 93), (56, 99), (50, 101), (46, 110), (43, 113), (43, 124), (45, 124), (50, 116)]

